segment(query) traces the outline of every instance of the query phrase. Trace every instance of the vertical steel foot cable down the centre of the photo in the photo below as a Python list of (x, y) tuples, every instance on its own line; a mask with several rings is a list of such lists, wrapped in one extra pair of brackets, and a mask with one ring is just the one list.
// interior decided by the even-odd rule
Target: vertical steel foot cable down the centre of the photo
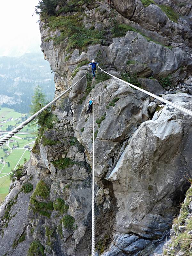
[(93, 79), (92, 249), (95, 256), (95, 79)]

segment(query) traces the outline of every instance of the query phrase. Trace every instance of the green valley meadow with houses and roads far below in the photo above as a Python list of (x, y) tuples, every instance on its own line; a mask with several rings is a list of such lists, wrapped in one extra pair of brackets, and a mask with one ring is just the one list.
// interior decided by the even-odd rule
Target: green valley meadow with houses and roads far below
[[(9, 118), (12, 118), (12, 120), (8, 120)], [(1, 108), (0, 137), (2, 138), (7, 134), (7, 132), (9, 132), (4, 132), (7, 130), (8, 125), (17, 127), (26, 118), (27, 114), (18, 113), (11, 108)], [(36, 140), (35, 132), (36, 129), (26, 126), (7, 143), (0, 147), (0, 204), (9, 193), (9, 186), (11, 182), (9, 179), (9, 173), (12, 169), (17, 168), (18, 164), (23, 164), (25, 158), (29, 160), (30, 151), (28, 148), (25, 148), (25, 146), (33, 148), (34, 141)]]

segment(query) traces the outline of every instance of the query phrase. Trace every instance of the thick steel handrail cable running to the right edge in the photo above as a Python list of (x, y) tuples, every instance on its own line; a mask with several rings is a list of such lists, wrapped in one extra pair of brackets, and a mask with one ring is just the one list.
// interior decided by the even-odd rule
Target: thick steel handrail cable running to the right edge
[[(99, 66), (98, 66), (98, 67), (99, 67)], [(99, 67), (99, 68), (100, 68), (100, 67)], [(100, 70), (102, 70), (103, 72), (105, 72), (107, 75), (112, 76), (112, 77), (115, 78), (116, 80), (119, 80), (119, 81), (123, 82), (124, 84), (130, 85), (131, 87), (133, 87), (133, 88), (139, 90), (140, 92), (144, 92), (145, 94), (148, 94), (149, 96), (151, 96), (151, 97), (153, 97), (153, 98), (155, 98), (155, 99), (157, 99), (157, 100), (160, 100), (161, 102), (164, 102), (165, 104), (168, 104), (168, 105), (172, 106), (173, 108), (176, 108), (176, 109), (182, 111), (183, 113), (185, 113), (185, 114), (187, 114), (187, 115), (189, 115), (189, 116), (192, 116), (192, 111), (191, 111), (191, 110), (189, 110), (189, 109), (187, 109), (187, 108), (183, 108), (183, 107), (181, 107), (181, 106), (179, 106), (179, 105), (177, 105), (177, 104), (175, 104), (175, 103), (172, 103), (172, 102), (169, 101), (169, 100), (166, 100), (166, 99), (164, 99), (164, 98), (161, 98), (161, 97), (159, 97), (159, 96), (157, 96), (157, 95), (155, 95), (155, 94), (153, 94), (153, 93), (151, 93), (151, 92), (148, 92), (148, 91), (146, 91), (146, 90), (143, 90), (143, 89), (141, 89), (141, 88), (139, 88), (139, 87), (137, 87), (137, 86), (135, 86), (135, 85), (133, 85), (133, 84), (130, 84), (130, 83), (128, 83), (128, 82), (126, 82), (126, 81), (124, 81), (124, 80), (122, 80), (122, 79), (116, 77), (116, 76), (113, 76), (113, 75), (109, 74), (108, 72), (104, 71), (102, 68), (100, 68)]]

